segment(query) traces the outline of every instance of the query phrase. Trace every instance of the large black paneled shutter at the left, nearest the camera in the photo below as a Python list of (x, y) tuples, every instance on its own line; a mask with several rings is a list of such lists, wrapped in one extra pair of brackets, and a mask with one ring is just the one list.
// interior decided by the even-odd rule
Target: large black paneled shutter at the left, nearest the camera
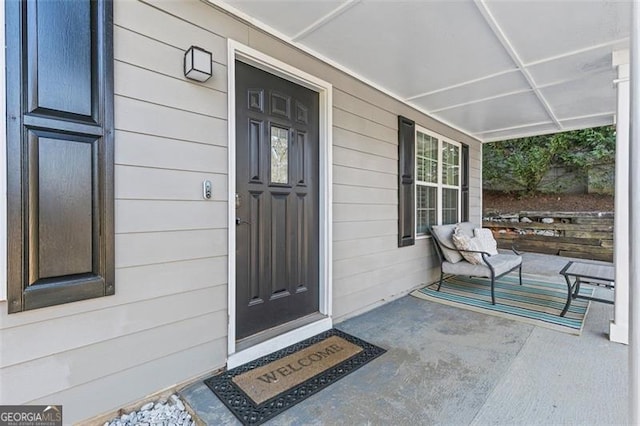
[(115, 291), (112, 15), (6, 2), (10, 313)]

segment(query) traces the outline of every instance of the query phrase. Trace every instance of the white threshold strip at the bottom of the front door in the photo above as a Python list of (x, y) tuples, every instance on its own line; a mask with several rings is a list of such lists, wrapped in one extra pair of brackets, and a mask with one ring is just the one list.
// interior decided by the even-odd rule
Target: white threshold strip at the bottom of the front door
[(227, 369), (286, 348), (333, 327), (331, 318), (319, 312), (262, 331), (236, 342), (236, 352), (229, 355)]

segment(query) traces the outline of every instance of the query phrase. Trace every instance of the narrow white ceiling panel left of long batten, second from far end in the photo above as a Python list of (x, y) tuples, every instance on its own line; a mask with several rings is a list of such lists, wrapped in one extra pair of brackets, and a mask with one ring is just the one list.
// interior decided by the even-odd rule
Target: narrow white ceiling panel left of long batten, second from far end
[(410, 99), (430, 112), (436, 112), (448, 107), (479, 101), (490, 97), (497, 97), (518, 91), (530, 91), (531, 86), (520, 71), (512, 71), (491, 78), (474, 81), (462, 86), (441, 90), (426, 96)]

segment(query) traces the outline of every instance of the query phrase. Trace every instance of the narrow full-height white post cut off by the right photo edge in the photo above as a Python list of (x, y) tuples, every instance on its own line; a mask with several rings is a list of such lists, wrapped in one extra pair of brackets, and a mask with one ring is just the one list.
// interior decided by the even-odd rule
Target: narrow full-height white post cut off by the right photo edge
[(629, 139), (629, 421), (640, 424), (640, 3), (631, 5)]

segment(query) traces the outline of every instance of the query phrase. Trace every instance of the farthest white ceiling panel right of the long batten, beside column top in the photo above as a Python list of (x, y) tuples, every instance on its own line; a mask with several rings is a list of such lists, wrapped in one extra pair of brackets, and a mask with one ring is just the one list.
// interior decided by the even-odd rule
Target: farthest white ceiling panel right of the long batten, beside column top
[(580, 80), (541, 89), (560, 120), (586, 115), (610, 113), (616, 110), (616, 90), (613, 70), (590, 75)]

